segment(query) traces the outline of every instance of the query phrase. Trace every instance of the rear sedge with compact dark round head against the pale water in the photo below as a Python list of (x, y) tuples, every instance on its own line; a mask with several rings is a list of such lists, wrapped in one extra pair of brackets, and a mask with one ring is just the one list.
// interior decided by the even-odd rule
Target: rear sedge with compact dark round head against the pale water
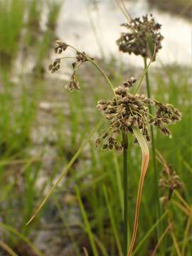
[[(124, 1), (117, 1), (120, 9), (127, 18), (127, 23), (123, 23), (122, 26), (127, 29), (127, 32), (121, 34), (120, 38), (117, 40), (117, 46), (119, 50), (123, 53), (139, 55), (144, 60), (144, 70), (146, 70), (146, 92), (147, 97), (151, 98), (151, 88), (149, 82), (149, 72), (147, 59), (151, 61), (156, 60), (156, 53), (161, 49), (161, 41), (163, 36), (161, 35), (160, 28), (161, 24), (156, 23), (153, 16), (145, 15), (142, 18), (132, 18), (127, 11)], [(151, 105), (149, 105), (149, 115), (152, 114)], [(161, 207), (159, 203), (159, 188), (158, 188), (158, 174), (157, 174), (157, 164), (156, 164), (156, 143), (154, 137), (154, 127), (150, 127), (151, 133), (151, 149), (152, 149), (152, 161), (154, 168), (154, 184), (155, 184), (155, 195), (156, 195), (156, 219), (158, 220), (161, 215)], [(160, 235), (159, 225), (157, 226), (157, 238)]]

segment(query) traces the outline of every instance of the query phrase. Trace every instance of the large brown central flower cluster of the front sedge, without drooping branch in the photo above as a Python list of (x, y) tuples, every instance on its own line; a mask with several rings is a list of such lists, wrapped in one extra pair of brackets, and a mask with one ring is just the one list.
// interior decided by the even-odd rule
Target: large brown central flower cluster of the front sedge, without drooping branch
[[(96, 146), (102, 146), (102, 149), (114, 148), (121, 152), (124, 145), (122, 139), (119, 139), (120, 132), (133, 134), (133, 128), (138, 128), (147, 141), (150, 141), (148, 124), (158, 127), (166, 136), (170, 136), (168, 124), (181, 119), (181, 113), (173, 105), (162, 104), (145, 95), (131, 94), (129, 87), (132, 87), (135, 81), (132, 78), (115, 88), (115, 97), (112, 100), (97, 102), (97, 109), (109, 120), (110, 127), (96, 140)], [(156, 113), (152, 116), (149, 116), (149, 105), (156, 108)]]

